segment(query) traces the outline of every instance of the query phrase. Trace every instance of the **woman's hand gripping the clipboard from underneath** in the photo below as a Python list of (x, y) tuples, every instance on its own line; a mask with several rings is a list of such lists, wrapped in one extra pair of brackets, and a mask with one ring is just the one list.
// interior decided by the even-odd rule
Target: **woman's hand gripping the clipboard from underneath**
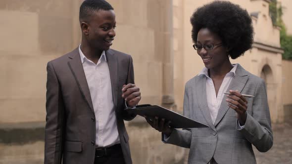
[(147, 123), (149, 123), (154, 129), (158, 130), (159, 132), (164, 133), (167, 137), (170, 136), (173, 128), (169, 126), (169, 124), (171, 123), (169, 122), (165, 122), (165, 119), (159, 119), (157, 116), (154, 118), (154, 120), (150, 120), (150, 118), (148, 118), (147, 116), (144, 116)]

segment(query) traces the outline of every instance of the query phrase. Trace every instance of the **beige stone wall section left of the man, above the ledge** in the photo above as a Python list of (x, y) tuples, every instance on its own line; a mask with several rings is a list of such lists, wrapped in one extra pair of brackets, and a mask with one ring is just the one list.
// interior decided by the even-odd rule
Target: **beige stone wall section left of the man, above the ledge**
[(0, 123), (45, 121), (46, 64), (72, 49), (69, 1), (0, 1)]

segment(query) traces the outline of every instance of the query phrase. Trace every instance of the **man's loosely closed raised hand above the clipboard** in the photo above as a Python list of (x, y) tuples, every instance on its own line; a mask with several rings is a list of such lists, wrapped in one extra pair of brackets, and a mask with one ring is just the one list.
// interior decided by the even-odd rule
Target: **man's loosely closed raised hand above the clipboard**
[(127, 106), (134, 107), (141, 100), (140, 88), (133, 83), (123, 85), (122, 97), (127, 101)]

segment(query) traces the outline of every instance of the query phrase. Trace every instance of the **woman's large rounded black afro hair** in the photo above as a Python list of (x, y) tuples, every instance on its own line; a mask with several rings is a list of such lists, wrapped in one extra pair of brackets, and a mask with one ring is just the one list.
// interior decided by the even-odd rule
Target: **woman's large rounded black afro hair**
[(217, 34), (224, 46), (230, 48), (232, 59), (251, 48), (253, 27), (248, 12), (238, 4), (216, 0), (196, 9), (191, 17), (192, 39), (197, 40), (200, 29), (207, 28)]

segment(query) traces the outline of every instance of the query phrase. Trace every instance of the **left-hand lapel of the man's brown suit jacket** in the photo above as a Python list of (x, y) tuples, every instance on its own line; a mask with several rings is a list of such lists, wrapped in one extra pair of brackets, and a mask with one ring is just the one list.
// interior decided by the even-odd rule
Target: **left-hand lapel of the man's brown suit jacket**
[(91, 100), (91, 95), (88, 87), (88, 83), (85, 77), (83, 66), (80, 59), (79, 49), (76, 48), (69, 54), (71, 60), (68, 61), (68, 66), (81, 90), (81, 93), (85, 97), (89, 107), (92, 112), (94, 112), (93, 103)]

